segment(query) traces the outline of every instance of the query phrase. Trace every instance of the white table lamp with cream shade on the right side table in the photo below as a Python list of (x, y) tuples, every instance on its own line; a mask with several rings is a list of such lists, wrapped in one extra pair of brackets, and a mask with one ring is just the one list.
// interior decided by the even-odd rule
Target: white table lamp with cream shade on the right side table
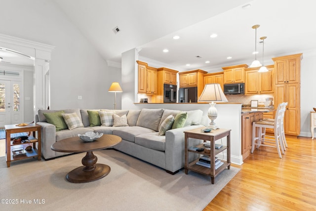
[(217, 118), (217, 109), (215, 102), (228, 102), (220, 84), (205, 84), (201, 96), (198, 98), (198, 102), (209, 102), (210, 108), (207, 111), (207, 116), (211, 120), (209, 127), (217, 129), (214, 120)]

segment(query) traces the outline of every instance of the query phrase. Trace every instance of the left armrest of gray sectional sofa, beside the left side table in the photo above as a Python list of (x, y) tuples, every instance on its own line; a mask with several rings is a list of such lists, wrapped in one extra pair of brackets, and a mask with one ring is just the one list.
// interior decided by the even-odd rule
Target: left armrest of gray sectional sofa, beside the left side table
[(41, 155), (44, 159), (56, 157), (50, 146), (56, 142), (56, 127), (46, 122), (37, 122), (41, 126)]

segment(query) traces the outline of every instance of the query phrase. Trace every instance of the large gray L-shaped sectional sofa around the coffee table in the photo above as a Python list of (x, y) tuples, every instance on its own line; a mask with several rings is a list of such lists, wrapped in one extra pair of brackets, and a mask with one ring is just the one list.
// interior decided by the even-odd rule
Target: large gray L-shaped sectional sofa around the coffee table
[[(56, 110), (39, 110), (36, 122), (41, 126), (41, 154), (45, 160), (69, 153), (55, 152), (50, 146), (59, 140), (94, 131), (103, 134), (114, 134), (122, 141), (114, 149), (124, 152), (143, 161), (151, 163), (169, 173), (176, 173), (184, 167), (184, 131), (203, 127), (201, 124), (201, 110), (187, 111), (188, 118), (184, 127), (170, 129), (165, 135), (158, 135), (159, 126), (169, 115), (176, 116), (180, 111), (168, 109), (142, 109), (142, 110), (106, 110), (113, 111), (119, 117), (126, 115), (128, 126), (94, 126), (90, 127), (87, 109), (64, 109), (64, 113), (76, 113), (81, 118), (83, 127), (62, 129), (47, 123), (44, 113)], [(98, 110), (89, 110), (98, 111)], [(191, 145), (200, 143), (200, 140), (190, 141)], [(196, 159), (195, 153), (190, 153), (190, 160)]]

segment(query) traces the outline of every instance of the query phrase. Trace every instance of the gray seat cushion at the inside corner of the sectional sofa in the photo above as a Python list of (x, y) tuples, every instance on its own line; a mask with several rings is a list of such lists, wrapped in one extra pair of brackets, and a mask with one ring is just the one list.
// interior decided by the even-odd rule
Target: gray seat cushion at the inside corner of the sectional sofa
[(155, 132), (155, 130), (152, 130), (150, 128), (146, 127), (115, 127), (116, 129), (113, 130), (113, 135), (118, 135), (122, 139), (130, 142), (135, 142), (135, 136), (144, 134), (144, 133), (150, 133)]

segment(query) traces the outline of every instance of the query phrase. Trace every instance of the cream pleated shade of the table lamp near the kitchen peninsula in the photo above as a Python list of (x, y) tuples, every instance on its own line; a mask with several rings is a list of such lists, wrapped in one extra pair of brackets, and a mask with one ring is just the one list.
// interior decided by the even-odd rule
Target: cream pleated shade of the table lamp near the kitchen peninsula
[(198, 102), (228, 102), (220, 84), (206, 84)]

